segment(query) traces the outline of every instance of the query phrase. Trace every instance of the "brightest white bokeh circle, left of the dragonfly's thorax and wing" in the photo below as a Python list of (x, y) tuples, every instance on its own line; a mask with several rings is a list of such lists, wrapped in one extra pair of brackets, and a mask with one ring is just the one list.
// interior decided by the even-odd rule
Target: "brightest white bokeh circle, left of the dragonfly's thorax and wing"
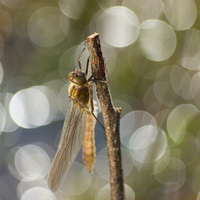
[(12, 97), (9, 112), (16, 124), (33, 128), (45, 124), (49, 116), (49, 102), (41, 91), (29, 88)]

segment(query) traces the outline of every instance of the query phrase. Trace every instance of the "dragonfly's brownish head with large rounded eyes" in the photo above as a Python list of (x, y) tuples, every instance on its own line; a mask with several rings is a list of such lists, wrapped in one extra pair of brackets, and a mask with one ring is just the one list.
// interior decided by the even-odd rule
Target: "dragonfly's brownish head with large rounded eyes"
[(75, 69), (68, 74), (68, 80), (76, 85), (84, 85), (87, 83), (86, 75), (83, 71)]

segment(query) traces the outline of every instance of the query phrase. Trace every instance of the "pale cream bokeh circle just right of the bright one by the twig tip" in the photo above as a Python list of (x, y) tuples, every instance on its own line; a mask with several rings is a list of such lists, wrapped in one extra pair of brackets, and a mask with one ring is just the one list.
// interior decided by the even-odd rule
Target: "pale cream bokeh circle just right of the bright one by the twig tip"
[(176, 48), (174, 30), (161, 20), (146, 20), (140, 25), (140, 48), (153, 61), (168, 59)]

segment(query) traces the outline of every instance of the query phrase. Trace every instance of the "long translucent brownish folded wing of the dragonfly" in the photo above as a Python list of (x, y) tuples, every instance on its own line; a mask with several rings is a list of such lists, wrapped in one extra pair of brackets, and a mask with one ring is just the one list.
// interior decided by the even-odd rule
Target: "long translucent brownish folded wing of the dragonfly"
[(48, 186), (52, 192), (60, 187), (65, 173), (73, 163), (83, 144), (85, 113), (71, 101), (66, 114), (58, 150), (48, 173)]

